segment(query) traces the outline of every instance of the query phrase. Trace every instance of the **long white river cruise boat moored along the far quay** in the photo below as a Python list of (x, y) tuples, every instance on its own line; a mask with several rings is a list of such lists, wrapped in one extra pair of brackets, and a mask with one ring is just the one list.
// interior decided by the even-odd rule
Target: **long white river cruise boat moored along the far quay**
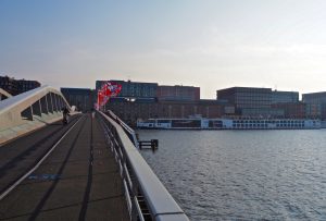
[(149, 119), (137, 121), (138, 128), (162, 130), (306, 130), (321, 128), (313, 119)]

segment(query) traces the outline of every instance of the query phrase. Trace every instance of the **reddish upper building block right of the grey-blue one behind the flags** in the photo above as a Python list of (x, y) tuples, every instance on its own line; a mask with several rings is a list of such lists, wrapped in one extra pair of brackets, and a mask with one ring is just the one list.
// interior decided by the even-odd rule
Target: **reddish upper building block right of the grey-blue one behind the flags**
[(200, 87), (193, 86), (166, 86), (158, 87), (159, 100), (189, 100), (195, 101), (200, 99)]

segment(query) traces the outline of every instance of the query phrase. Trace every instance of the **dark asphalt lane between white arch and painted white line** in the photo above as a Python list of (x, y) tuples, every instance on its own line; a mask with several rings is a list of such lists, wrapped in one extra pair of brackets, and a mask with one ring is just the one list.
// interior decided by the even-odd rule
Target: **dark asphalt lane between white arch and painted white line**
[(25, 174), (82, 116), (73, 115), (67, 125), (51, 123), (0, 147), (0, 193)]

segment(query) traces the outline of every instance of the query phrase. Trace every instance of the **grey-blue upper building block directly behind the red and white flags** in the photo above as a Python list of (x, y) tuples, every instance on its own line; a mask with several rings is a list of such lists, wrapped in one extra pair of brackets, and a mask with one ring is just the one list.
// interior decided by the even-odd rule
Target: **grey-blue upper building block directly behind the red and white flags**
[[(96, 89), (100, 89), (108, 81), (97, 81)], [(112, 83), (122, 85), (118, 97), (124, 98), (155, 98), (158, 94), (158, 83), (141, 83), (131, 81), (111, 79)]]

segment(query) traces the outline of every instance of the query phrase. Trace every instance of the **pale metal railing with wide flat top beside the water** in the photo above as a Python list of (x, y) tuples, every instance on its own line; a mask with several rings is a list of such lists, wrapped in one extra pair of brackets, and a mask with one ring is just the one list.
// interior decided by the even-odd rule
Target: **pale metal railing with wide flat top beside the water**
[(103, 112), (98, 114), (108, 145), (120, 167), (130, 220), (188, 221), (122, 125)]

